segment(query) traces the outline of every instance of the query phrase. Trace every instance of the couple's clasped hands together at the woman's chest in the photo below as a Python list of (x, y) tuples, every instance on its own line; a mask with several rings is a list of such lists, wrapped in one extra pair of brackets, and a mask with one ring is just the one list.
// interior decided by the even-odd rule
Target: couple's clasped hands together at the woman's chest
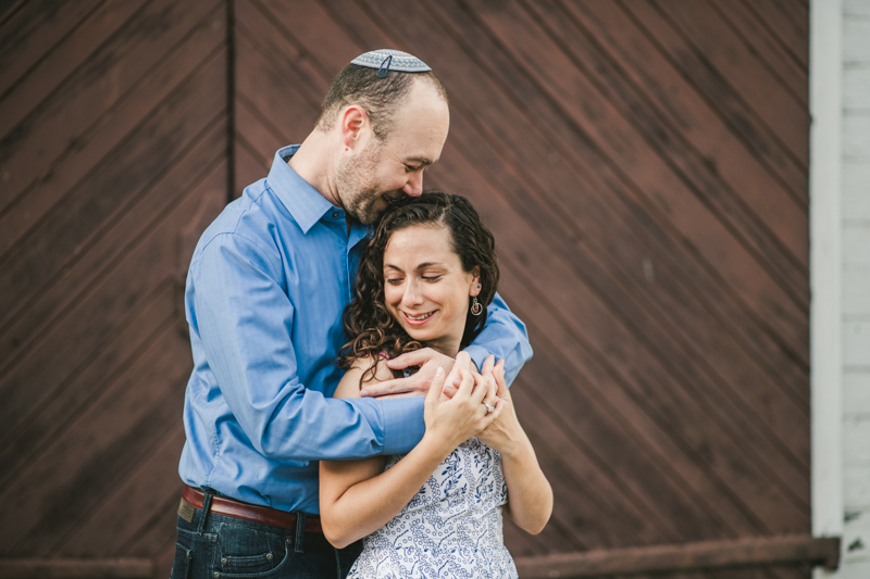
[[(477, 372), (465, 352), (453, 360), (426, 348), (387, 361), (387, 366), (420, 366), (420, 370), (408, 378), (366, 386), (360, 393), (390, 398), (425, 394), (426, 435), (436, 436), (449, 451), (473, 436), (502, 454), (521, 445), (524, 437), (505, 382), (504, 361), (495, 364), (495, 356), (487, 356)], [(494, 410), (489, 412), (487, 405)]]

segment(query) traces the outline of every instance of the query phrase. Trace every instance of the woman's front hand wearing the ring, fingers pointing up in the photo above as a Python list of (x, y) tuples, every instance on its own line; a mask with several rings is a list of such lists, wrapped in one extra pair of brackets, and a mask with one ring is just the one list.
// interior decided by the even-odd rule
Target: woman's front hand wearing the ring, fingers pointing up
[[(436, 370), (432, 387), (426, 394), (424, 445), (434, 444), (442, 450), (438, 454), (444, 453), (445, 456), (462, 442), (489, 427), (501, 415), (504, 406), (501, 402), (494, 406), (492, 413), (487, 412), (483, 401), (489, 394), (489, 385), (480, 378), (475, 379), (471, 364), (471, 357), (460, 352), (447, 377), (443, 368)], [(445, 383), (459, 385), (452, 398), (444, 393)]]

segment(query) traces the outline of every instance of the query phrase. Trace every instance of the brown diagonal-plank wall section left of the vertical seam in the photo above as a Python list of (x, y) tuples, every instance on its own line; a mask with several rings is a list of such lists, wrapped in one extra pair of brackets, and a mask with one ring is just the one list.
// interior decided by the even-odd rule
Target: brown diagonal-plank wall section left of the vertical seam
[(0, 15), (0, 557), (169, 575), (194, 244), (227, 199), (223, 0)]

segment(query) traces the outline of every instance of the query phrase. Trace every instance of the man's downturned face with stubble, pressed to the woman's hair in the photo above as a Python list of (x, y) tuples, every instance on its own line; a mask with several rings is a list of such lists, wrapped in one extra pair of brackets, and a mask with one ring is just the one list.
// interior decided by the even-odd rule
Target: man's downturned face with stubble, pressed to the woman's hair
[(428, 81), (415, 81), (386, 139), (370, 134), (361, 151), (339, 163), (336, 188), (345, 210), (369, 225), (391, 200), (421, 194), (423, 172), (440, 156), (449, 126), (444, 99)]

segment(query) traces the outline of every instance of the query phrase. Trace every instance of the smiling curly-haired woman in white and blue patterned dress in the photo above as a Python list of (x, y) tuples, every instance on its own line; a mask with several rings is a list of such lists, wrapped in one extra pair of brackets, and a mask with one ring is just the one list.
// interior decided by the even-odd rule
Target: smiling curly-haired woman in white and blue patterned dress
[[(497, 282), (493, 236), (461, 197), (405, 199), (377, 224), (345, 311), (353, 340), (343, 350), (348, 372), (335, 395), (359, 397), (365, 385), (393, 378), (384, 361), (417, 348), (457, 362), (447, 377), (438, 370), (426, 395), (426, 433), (409, 454), (321, 463), (326, 538), (340, 547), (365, 537), (348, 577), (517, 577), (502, 508), (532, 533), (549, 519), (552, 491), (517, 420), (501, 363), (487, 358), (484, 375), (496, 379), (487, 385), (461, 352), (483, 328)], [(452, 398), (443, 393), (445, 381)], [(468, 408), (476, 423), (461, 415)]]

